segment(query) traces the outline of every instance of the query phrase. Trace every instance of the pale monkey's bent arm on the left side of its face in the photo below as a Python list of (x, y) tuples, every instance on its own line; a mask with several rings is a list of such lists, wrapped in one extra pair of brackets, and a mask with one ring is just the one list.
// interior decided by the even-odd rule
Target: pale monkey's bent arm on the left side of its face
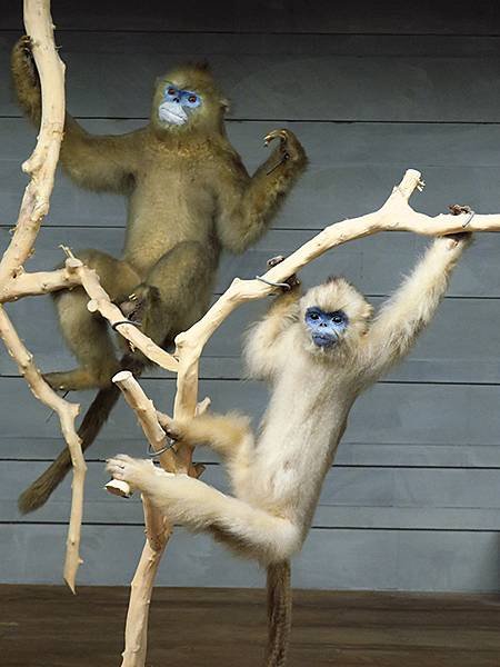
[(248, 332), (244, 358), (252, 378), (270, 380), (281, 366), (280, 340), (288, 327), (297, 321), (301, 293), (298, 286), (281, 293), (264, 317)]

